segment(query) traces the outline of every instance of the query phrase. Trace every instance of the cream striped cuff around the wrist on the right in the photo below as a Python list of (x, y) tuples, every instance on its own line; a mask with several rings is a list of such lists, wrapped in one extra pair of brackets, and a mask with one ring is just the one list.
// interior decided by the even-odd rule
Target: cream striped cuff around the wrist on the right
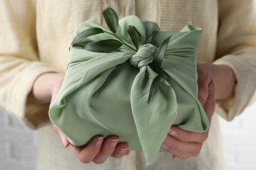
[(228, 65), (236, 75), (235, 95), (227, 101), (217, 101), (216, 111), (230, 121), (241, 114), (253, 99), (256, 91), (256, 67), (251, 59), (234, 55), (224, 56), (214, 62), (217, 65)]

